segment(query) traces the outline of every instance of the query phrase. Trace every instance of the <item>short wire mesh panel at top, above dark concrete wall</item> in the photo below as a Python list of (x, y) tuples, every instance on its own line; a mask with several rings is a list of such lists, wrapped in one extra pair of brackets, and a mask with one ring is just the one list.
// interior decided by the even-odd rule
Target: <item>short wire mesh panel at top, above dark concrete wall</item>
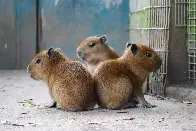
[(187, 26), (188, 0), (175, 0), (175, 26)]

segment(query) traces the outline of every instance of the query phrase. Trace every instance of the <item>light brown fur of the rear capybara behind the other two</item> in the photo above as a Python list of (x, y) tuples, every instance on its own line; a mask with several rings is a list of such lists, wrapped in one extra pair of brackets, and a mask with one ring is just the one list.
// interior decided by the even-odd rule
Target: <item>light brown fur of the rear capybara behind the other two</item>
[[(102, 36), (101, 36), (102, 37)], [(93, 74), (97, 66), (109, 59), (119, 58), (110, 46), (106, 43), (102, 43), (98, 36), (91, 36), (84, 39), (77, 48), (77, 52), (81, 52), (79, 58), (83, 59), (86, 63), (88, 71)], [(90, 47), (89, 44), (94, 43), (94, 47)]]

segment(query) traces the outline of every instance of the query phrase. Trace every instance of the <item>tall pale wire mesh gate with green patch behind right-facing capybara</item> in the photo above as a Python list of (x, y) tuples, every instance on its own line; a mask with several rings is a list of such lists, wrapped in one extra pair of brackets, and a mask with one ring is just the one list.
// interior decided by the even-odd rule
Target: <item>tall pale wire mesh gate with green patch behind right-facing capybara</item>
[(149, 93), (164, 95), (170, 22), (170, 0), (130, 0), (130, 41), (147, 44), (161, 56), (158, 73), (151, 73)]

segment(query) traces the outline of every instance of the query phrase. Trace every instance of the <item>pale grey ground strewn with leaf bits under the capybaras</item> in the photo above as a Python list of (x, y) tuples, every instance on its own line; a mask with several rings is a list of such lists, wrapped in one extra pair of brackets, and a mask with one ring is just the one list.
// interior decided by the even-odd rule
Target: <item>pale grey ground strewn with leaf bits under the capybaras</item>
[(48, 109), (45, 83), (0, 71), (0, 131), (196, 131), (196, 105), (145, 96), (157, 107), (66, 112)]

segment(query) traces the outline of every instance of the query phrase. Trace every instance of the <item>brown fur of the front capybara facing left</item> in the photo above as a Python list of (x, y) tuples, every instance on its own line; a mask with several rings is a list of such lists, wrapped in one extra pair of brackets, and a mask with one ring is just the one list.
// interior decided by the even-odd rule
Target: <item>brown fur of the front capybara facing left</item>
[[(69, 61), (59, 51), (49, 58), (49, 50), (37, 54), (28, 66), (28, 72), (35, 80), (47, 83), (50, 95), (62, 109), (82, 111), (92, 109), (96, 102), (94, 80), (80, 62)], [(35, 61), (41, 62), (36, 64)]]

